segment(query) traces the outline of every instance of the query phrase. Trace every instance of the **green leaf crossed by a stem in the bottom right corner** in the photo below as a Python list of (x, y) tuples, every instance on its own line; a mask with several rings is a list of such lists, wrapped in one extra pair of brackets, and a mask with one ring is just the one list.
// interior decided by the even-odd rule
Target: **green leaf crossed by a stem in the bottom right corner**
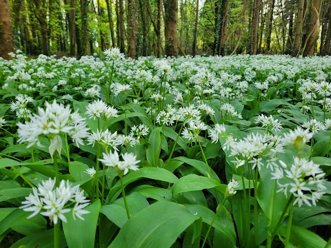
[[(288, 227), (283, 226), (279, 229), (281, 236), (286, 236)], [(324, 248), (325, 240), (303, 227), (292, 225), (290, 233), (290, 243), (298, 248)]]

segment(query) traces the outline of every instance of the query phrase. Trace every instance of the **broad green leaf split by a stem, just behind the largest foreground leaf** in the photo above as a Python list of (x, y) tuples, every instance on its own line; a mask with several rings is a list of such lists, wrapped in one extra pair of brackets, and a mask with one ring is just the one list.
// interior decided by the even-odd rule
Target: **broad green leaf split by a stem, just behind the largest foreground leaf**
[[(134, 216), (150, 205), (146, 198), (137, 192), (133, 192), (127, 196), (126, 200), (131, 216)], [(128, 214), (126, 213), (126, 206), (124, 205), (123, 198), (115, 200), (112, 204), (103, 205), (100, 212), (120, 228), (128, 221)]]

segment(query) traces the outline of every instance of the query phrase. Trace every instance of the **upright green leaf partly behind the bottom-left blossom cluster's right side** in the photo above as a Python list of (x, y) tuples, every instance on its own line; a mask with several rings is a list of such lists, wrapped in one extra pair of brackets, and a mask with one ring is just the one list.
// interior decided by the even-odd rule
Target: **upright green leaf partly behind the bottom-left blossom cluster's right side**
[(94, 247), (100, 207), (101, 203), (99, 199), (88, 205), (85, 210), (90, 211), (90, 213), (83, 215), (85, 220), (81, 220), (77, 217), (76, 220), (74, 220), (71, 211), (66, 214), (68, 222), (63, 222), (62, 225), (68, 247)]

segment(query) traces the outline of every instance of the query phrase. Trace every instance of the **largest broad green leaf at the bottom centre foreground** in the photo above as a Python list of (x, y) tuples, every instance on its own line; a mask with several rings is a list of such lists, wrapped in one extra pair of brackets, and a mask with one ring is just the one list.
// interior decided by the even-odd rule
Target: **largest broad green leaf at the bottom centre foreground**
[(130, 218), (109, 248), (169, 248), (198, 218), (183, 205), (154, 203)]

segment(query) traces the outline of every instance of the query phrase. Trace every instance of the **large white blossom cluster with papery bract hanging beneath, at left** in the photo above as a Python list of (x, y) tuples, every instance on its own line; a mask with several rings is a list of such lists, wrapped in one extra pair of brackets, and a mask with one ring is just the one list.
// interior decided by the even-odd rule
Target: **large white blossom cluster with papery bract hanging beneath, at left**
[(17, 123), (19, 126), (19, 143), (28, 143), (28, 147), (37, 144), (42, 147), (39, 136), (48, 136), (50, 138), (50, 155), (57, 150), (61, 154), (61, 134), (67, 134), (76, 143), (77, 147), (83, 145), (83, 139), (88, 136), (88, 127), (85, 119), (78, 111), (72, 113), (70, 105), (66, 107), (55, 100), (53, 103), (45, 103), (46, 109), (39, 107), (38, 114), (30, 115), (30, 121), (26, 123)]

